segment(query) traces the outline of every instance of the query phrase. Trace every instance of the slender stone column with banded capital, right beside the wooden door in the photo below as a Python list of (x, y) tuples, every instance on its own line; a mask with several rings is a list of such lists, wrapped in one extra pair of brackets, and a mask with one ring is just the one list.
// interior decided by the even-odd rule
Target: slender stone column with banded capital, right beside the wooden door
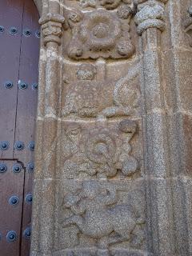
[(58, 142), (60, 108), (58, 73), (61, 68), (58, 53), (62, 42), (63, 22), (60, 3), (48, 1), (39, 20), (42, 25), (42, 46), (36, 127), (32, 255), (51, 255), (54, 246), (54, 177), (57, 164), (55, 150)]

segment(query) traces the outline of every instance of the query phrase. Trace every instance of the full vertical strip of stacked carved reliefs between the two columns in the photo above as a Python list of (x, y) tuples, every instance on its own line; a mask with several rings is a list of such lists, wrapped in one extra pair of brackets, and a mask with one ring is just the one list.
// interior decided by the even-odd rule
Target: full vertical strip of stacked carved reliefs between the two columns
[(55, 255), (146, 255), (133, 14), (133, 1), (64, 2)]

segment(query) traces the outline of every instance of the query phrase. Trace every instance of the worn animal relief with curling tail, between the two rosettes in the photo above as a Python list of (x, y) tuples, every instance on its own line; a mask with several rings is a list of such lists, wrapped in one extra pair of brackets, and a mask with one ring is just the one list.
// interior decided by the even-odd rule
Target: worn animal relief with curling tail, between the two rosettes
[[(140, 91), (136, 82), (132, 77), (102, 78), (100, 66), (82, 64), (74, 70), (73, 78), (64, 77), (62, 117), (137, 115)], [(106, 69), (105, 63), (101, 68)]]

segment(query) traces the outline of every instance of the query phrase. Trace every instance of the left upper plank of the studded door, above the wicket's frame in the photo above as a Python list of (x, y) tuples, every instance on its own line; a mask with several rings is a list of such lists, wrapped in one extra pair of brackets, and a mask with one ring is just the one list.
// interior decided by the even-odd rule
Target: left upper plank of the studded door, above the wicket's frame
[[(15, 4), (14, 2), (17, 2)], [(14, 3), (14, 4), (12, 4)], [(14, 126), (17, 110), (18, 70), (22, 39), (23, 0), (0, 1), (0, 150), (1, 158), (13, 158)], [(7, 82), (7, 83), (6, 83)], [(6, 83), (7, 86), (4, 86)], [(6, 120), (5, 118), (6, 117)]]

